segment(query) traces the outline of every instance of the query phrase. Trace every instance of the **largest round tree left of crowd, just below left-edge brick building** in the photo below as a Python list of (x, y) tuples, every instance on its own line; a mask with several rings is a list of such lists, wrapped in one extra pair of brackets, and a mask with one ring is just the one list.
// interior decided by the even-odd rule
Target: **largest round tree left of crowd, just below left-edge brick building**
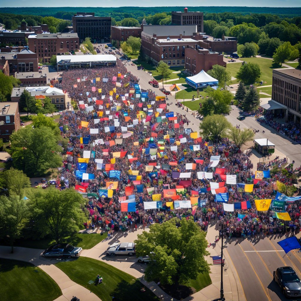
[(29, 176), (44, 175), (47, 169), (61, 165), (62, 148), (57, 145), (57, 136), (46, 126), (25, 127), (13, 132), (9, 153), (13, 166)]

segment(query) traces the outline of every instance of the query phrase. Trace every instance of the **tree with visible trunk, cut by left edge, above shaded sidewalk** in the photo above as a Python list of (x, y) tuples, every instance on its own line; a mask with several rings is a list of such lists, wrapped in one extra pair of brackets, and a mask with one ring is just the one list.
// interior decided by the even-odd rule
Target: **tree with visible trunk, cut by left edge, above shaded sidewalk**
[(17, 195), (0, 197), (0, 237), (8, 237), (11, 253), (14, 253), (14, 241), (21, 237), (28, 217), (27, 200)]

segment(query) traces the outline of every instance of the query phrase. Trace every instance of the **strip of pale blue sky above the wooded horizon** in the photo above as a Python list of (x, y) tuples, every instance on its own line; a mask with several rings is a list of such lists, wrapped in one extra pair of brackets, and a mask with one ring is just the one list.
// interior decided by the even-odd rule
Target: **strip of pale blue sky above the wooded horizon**
[[(90, 0), (88, 3), (82, 0), (72, 0), (72, 1), (61, 1), (61, 0), (0, 0), (0, 7), (84, 7), (87, 5), (89, 7), (120, 7), (120, 6), (138, 6), (140, 7), (151, 7), (151, 6), (185, 6), (183, 1), (173, 0), (162, 2), (162, 0), (144, 0), (143, 2), (137, 2), (137, 0)], [(273, 0), (273, 1), (265, 1), (262, 0), (241, 0), (241, 1), (222, 1), (216, 0), (214, 3), (209, 3), (200, 0), (190, 0), (186, 5), (192, 6), (228, 6), (232, 4), (233, 6), (252, 6), (252, 7), (301, 7), (300, 0)]]

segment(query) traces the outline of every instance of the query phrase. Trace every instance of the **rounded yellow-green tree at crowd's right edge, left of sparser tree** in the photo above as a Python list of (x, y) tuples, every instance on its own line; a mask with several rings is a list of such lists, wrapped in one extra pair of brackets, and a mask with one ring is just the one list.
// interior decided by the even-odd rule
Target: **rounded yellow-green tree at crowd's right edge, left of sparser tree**
[(227, 132), (231, 127), (231, 123), (222, 115), (209, 115), (204, 117), (200, 123), (200, 135), (203, 138), (212, 138), (221, 140), (227, 137)]

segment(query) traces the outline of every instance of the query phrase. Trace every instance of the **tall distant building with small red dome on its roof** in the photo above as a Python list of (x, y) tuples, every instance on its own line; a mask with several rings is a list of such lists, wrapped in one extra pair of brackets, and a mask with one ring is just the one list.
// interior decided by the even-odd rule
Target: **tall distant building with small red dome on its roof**
[(197, 25), (197, 31), (202, 33), (204, 30), (204, 14), (200, 11), (188, 11), (188, 8), (185, 7), (184, 12), (171, 12), (171, 23), (174, 25)]

